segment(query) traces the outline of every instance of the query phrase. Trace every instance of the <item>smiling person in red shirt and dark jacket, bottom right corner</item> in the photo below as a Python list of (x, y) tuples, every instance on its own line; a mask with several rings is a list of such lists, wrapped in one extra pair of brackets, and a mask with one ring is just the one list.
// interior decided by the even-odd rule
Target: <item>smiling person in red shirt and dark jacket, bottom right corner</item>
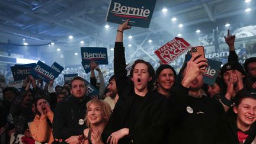
[(227, 114), (232, 143), (256, 143), (256, 95), (236, 97)]

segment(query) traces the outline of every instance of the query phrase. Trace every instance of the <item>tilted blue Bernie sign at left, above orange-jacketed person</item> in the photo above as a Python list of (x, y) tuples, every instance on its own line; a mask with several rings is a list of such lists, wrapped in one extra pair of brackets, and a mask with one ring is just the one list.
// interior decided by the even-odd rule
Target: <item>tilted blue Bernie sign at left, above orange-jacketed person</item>
[(47, 66), (40, 60), (36, 63), (33, 69), (31, 69), (31, 75), (34, 78), (41, 79), (44, 82), (49, 84), (49, 81), (54, 80), (59, 76), (59, 74), (52, 69), (50, 66)]

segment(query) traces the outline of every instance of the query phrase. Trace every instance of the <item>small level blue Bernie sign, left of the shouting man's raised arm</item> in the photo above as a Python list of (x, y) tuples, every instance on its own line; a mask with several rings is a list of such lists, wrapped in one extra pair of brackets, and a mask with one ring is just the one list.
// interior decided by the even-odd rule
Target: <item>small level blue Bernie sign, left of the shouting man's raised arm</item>
[(107, 48), (106, 47), (81, 47), (82, 62), (89, 64), (95, 61), (98, 65), (107, 65)]

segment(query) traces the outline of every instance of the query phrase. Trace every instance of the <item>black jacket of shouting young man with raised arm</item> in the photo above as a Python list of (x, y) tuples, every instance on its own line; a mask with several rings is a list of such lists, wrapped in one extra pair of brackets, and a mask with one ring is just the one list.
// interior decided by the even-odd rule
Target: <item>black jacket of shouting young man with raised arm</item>
[(162, 104), (164, 96), (149, 91), (145, 100), (137, 108), (130, 111), (136, 94), (133, 82), (126, 77), (126, 62), (124, 57), (123, 43), (116, 43), (114, 50), (114, 73), (119, 94), (119, 100), (114, 107), (113, 113), (102, 133), (103, 142), (107, 142), (108, 136), (117, 130), (123, 129), (127, 123), (127, 115), (131, 112), (136, 119), (129, 128), (129, 135), (123, 137), (119, 143), (160, 143), (164, 125), (161, 123)]

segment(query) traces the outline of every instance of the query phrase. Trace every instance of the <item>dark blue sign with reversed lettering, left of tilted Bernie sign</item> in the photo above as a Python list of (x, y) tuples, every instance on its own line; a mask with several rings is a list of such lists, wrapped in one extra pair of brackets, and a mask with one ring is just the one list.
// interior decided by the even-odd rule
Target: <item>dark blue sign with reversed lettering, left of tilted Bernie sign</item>
[(14, 65), (11, 66), (12, 76), (14, 81), (20, 81), (26, 78), (26, 76), (31, 74), (31, 69), (36, 65), (36, 63), (29, 63), (25, 65)]

